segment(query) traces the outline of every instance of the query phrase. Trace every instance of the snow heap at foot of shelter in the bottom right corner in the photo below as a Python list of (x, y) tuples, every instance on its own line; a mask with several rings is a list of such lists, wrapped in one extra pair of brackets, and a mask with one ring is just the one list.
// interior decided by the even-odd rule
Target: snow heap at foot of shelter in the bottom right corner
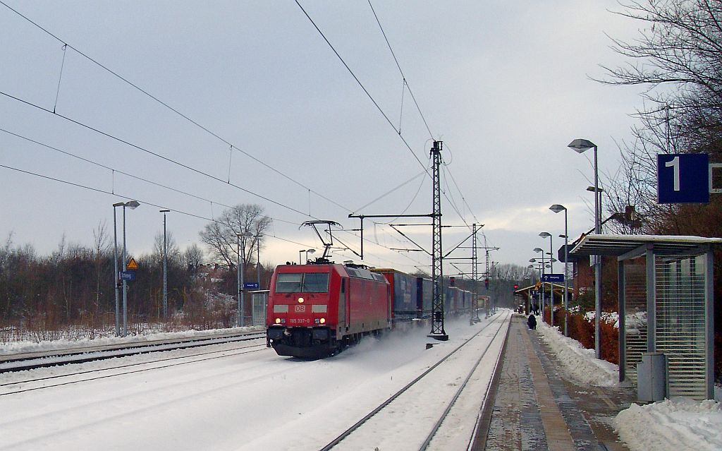
[(713, 400), (632, 404), (614, 426), (631, 451), (722, 450), (722, 404)]

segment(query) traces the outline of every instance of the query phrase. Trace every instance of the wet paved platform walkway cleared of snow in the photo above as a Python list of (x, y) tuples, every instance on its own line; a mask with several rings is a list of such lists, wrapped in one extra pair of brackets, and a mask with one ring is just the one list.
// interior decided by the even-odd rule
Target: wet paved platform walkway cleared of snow
[(498, 383), (489, 432), (479, 449), (627, 450), (612, 418), (635, 401), (634, 390), (570, 381), (522, 316), (512, 319)]

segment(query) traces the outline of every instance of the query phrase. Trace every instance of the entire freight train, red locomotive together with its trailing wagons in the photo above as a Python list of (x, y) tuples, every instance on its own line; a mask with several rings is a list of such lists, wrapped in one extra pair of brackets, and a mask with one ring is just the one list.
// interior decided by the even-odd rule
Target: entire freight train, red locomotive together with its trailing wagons
[[(365, 335), (426, 326), (431, 280), (393, 269), (368, 270), (317, 259), (280, 265), (271, 278), (266, 340), (279, 356), (334, 355)], [(448, 287), (445, 316), (471, 312), (471, 293)]]

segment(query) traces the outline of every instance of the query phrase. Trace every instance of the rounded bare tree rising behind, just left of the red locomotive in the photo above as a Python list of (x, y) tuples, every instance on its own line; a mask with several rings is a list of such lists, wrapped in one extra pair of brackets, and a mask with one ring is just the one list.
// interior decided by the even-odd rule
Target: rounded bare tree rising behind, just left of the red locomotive
[[(229, 269), (238, 264), (238, 242), (245, 244), (244, 264), (253, 261), (256, 247), (261, 246), (263, 234), (271, 226), (271, 218), (263, 214), (261, 205), (240, 204), (225, 210), (201, 231), (201, 241), (210, 249), (217, 262)], [(240, 235), (240, 239), (239, 236)]]

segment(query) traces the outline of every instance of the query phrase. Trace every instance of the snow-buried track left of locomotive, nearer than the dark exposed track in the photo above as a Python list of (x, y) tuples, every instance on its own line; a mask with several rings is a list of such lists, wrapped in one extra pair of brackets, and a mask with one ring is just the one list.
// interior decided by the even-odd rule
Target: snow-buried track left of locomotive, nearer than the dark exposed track
[[(167, 358), (157, 358), (151, 361), (142, 361), (133, 364), (122, 364), (117, 366), (107, 366), (99, 369), (89, 369), (85, 371), (77, 371), (68, 374), (56, 374), (47, 377), (38, 377), (32, 379), (16, 380), (12, 382), (0, 383), (0, 397), (6, 395), (15, 395), (22, 392), (30, 392), (35, 390), (43, 390), (45, 388), (60, 387), (63, 385), (78, 384), (81, 382), (90, 382), (97, 379), (107, 379), (109, 377), (118, 377), (126, 374), (135, 374), (143, 371), (152, 371), (156, 369), (165, 369), (172, 366), (180, 366), (186, 364), (194, 364), (201, 361), (209, 361), (218, 358), (227, 358), (239, 356), (241, 354), (253, 353), (266, 350), (266, 343), (257, 345), (245, 345), (240, 348), (223, 349), (219, 351), (205, 351), (200, 353), (186, 354), (183, 356), (173, 356)], [(219, 354), (219, 355), (213, 355)], [(1, 380), (1, 379), (0, 379)]]

